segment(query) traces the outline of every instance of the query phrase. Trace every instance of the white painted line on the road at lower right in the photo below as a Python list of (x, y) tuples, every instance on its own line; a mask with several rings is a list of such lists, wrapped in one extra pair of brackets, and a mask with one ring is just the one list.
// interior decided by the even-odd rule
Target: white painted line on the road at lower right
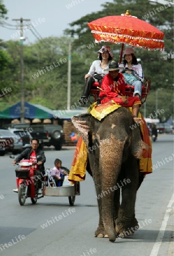
[(170, 216), (170, 212), (172, 210), (172, 204), (174, 203), (174, 193), (171, 197), (171, 200), (169, 201), (168, 205), (167, 205), (167, 210), (165, 212), (165, 215), (164, 215), (164, 220), (162, 221), (162, 225), (160, 227), (160, 230), (159, 230), (159, 233), (158, 233), (158, 237), (156, 238), (156, 242), (151, 250), (151, 253), (150, 253), (150, 256), (157, 256), (158, 255), (158, 252), (159, 252), (159, 249), (160, 249), (160, 246), (162, 244), (162, 241), (163, 241), (163, 237), (164, 237), (164, 232), (165, 232), (165, 229), (166, 229), (166, 226), (167, 226), (167, 221), (168, 221), (168, 218)]

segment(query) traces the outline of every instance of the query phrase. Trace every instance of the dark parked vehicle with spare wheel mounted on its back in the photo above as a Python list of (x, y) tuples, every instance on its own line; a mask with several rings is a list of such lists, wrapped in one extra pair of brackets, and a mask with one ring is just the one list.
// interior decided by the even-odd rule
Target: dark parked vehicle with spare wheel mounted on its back
[(4, 129), (17, 128), (29, 131), (31, 136), (39, 139), (41, 146), (54, 146), (56, 150), (61, 150), (65, 143), (65, 134), (61, 125), (30, 125), (28, 123), (10, 123), (3, 125)]

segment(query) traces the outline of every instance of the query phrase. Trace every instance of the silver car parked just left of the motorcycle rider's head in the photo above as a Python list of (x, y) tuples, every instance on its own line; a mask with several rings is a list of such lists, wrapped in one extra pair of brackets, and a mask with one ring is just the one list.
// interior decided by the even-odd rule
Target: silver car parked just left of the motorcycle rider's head
[(29, 132), (16, 128), (9, 128), (9, 131), (14, 133), (16, 138), (22, 139), (22, 150), (31, 147), (32, 136)]

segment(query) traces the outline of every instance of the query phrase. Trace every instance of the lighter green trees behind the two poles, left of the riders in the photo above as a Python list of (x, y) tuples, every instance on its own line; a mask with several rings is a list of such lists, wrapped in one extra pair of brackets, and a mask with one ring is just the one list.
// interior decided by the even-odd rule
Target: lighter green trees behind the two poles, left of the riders
[[(42, 104), (50, 109), (66, 109), (67, 106), (67, 64), (69, 41), (67, 37), (45, 38), (23, 46), (24, 57), (24, 99), (33, 104)], [(20, 46), (19, 42), (3, 43), (3, 54), (9, 57), (7, 73), (0, 88), (6, 84), (12, 93), (1, 101), (20, 101)], [(1, 52), (0, 52), (1, 54)], [(72, 50), (71, 104), (80, 98), (84, 73), (83, 53)], [(0, 59), (1, 64), (1, 59)], [(1, 66), (0, 66), (1, 67)], [(4, 66), (5, 67), (5, 66)], [(50, 69), (50, 67), (52, 69)], [(45, 102), (45, 104), (44, 104)]]

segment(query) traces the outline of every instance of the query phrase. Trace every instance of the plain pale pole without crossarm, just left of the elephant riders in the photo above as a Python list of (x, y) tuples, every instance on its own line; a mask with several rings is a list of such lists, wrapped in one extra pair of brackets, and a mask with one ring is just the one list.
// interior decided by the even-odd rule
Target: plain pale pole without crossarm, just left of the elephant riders
[(69, 42), (69, 56), (67, 68), (67, 110), (70, 110), (71, 105), (71, 42)]

